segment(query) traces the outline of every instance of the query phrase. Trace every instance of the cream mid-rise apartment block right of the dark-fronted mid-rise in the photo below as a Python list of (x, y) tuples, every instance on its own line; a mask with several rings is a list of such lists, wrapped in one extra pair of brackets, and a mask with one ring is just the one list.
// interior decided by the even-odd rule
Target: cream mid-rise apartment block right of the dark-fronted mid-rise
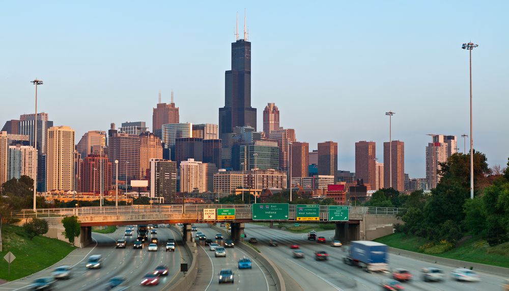
[(207, 164), (189, 158), (180, 163), (180, 192), (207, 191)]

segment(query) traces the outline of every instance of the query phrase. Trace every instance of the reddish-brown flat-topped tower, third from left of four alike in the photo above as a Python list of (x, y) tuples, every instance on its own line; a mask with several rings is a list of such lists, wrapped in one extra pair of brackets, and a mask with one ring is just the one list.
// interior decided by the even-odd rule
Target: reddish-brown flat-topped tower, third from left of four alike
[(376, 187), (376, 143), (360, 141), (355, 143), (355, 176), (364, 184)]

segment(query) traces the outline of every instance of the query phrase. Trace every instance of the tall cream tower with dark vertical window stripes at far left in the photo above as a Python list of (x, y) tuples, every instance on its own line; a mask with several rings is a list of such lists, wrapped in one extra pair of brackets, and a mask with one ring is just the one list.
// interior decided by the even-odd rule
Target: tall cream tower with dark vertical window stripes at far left
[(48, 191), (74, 190), (74, 138), (69, 126), (48, 128), (46, 188)]

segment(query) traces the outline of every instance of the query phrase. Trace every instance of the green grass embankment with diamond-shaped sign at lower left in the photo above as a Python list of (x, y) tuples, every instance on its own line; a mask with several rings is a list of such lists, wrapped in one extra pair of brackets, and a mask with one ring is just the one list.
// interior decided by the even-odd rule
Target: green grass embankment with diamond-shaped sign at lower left
[[(0, 252), (0, 279), (12, 281), (19, 279), (58, 262), (75, 249), (72, 245), (45, 236), (36, 236), (31, 241), (22, 227), (2, 226), (3, 252)], [(8, 253), (16, 257), (11, 262), (11, 275), (4, 256)]]

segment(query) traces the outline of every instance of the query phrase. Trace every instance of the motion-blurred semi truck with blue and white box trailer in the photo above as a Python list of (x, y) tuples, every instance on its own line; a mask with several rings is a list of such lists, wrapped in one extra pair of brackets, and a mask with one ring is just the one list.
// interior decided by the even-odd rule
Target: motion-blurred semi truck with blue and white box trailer
[(366, 272), (389, 271), (387, 246), (371, 241), (352, 241), (350, 250), (343, 262), (350, 266), (359, 266)]

